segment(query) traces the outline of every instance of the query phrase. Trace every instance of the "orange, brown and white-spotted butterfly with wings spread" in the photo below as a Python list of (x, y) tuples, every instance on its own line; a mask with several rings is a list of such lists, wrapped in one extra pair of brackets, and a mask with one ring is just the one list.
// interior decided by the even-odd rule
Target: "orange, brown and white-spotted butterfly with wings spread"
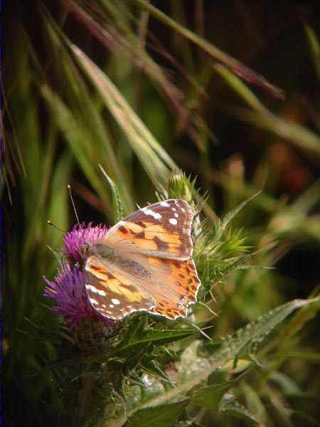
[(92, 307), (122, 320), (149, 312), (186, 317), (201, 282), (193, 262), (193, 211), (181, 199), (145, 206), (93, 244), (85, 243), (85, 289)]

